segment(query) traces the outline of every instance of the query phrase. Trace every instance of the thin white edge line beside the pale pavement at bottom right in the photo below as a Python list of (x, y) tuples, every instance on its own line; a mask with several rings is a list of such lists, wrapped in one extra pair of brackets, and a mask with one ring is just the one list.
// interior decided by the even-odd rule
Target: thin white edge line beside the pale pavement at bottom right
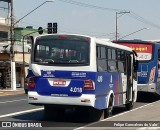
[[(141, 109), (141, 108), (146, 107), (146, 106), (150, 106), (150, 105), (152, 105), (152, 104), (154, 104), (154, 103), (158, 103), (158, 102), (160, 102), (160, 100), (158, 100), (158, 101), (156, 101), (156, 102), (152, 102), (152, 103), (146, 104), (146, 105), (144, 105), (144, 106), (137, 107), (137, 108), (132, 109), (132, 110), (130, 110), (130, 111), (126, 111), (126, 112), (123, 112), (123, 113), (114, 115), (114, 116), (112, 116), (112, 117), (109, 117), (109, 118), (106, 118), (106, 119), (103, 119), (103, 120), (100, 120), (100, 121), (96, 121), (96, 122), (90, 123), (90, 124), (85, 125), (85, 126), (82, 126), (82, 127), (75, 128), (75, 129), (73, 129), (73, 130), (85, 129), (86, 127), (89, 127), (89, 126), (91, 126), (91, 125), (97, 124), (98, 122), (107, 121), (107, 120), (109, 120), (109, 119), (112, 119), (112, 118), (115, 118), (115, 117), (124, 115), (124, 114), (126, 114), (126, 113), (129, 113), (129, 112), (132, 112), (132, 111)], [(144, 128), (144, 127), (142, 127), (142, 128)]]

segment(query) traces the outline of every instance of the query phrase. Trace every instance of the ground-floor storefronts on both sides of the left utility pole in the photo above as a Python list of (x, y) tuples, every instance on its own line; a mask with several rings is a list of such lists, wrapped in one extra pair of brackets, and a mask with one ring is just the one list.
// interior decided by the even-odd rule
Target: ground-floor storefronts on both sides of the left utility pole
[[(22, 53), (15, 54), (16, 63), (16, 87), (24, 87), (24, 69), (27, 74), (29, 54), (25, 55), (25, 68), (23, 66)], [(8, 53), (0, 53), (0, 88), (11, 88), (11, 61)]]

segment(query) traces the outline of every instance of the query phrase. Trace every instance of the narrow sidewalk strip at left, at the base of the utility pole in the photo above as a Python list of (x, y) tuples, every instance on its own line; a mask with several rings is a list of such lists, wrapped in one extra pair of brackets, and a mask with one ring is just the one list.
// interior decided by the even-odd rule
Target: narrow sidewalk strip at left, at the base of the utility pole
[(16, 94), (24, 94), (24, 88), (16, 88), (16, 90), (11, 90), (11, 88), (0, 88), (0, 96), (8, 96), (8, 95), (16, 95)]

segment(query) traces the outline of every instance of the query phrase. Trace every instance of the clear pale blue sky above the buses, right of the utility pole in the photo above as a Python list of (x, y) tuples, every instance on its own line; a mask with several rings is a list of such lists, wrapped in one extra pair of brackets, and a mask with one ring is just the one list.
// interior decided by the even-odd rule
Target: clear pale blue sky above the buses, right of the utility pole
[[(15, 21), (45, 0), (14, 0)], [(122, 13), (120, 12), (129, 12)], [(117, 12), (117, 17), (116, 17)], [(57, 22), (58, 33), (118, 38), (160, 39), (160, 0), (54, 0), (46, 2), (20, 20), (19, 27), (47, 28)]]

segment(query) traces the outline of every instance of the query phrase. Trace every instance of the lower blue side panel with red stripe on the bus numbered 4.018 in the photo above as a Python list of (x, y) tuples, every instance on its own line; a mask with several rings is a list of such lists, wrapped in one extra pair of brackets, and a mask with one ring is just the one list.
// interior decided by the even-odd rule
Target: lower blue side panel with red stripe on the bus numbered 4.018
[(109, 94), (113, 92), (114, 95), (114, 106), (123, 104), (123, 88), (122, 78), (120, 73), (112, 72), (105, 73), (99, 72), (96, 76), (96, 101), (95, 108), (105, 109), (108, 107)]

